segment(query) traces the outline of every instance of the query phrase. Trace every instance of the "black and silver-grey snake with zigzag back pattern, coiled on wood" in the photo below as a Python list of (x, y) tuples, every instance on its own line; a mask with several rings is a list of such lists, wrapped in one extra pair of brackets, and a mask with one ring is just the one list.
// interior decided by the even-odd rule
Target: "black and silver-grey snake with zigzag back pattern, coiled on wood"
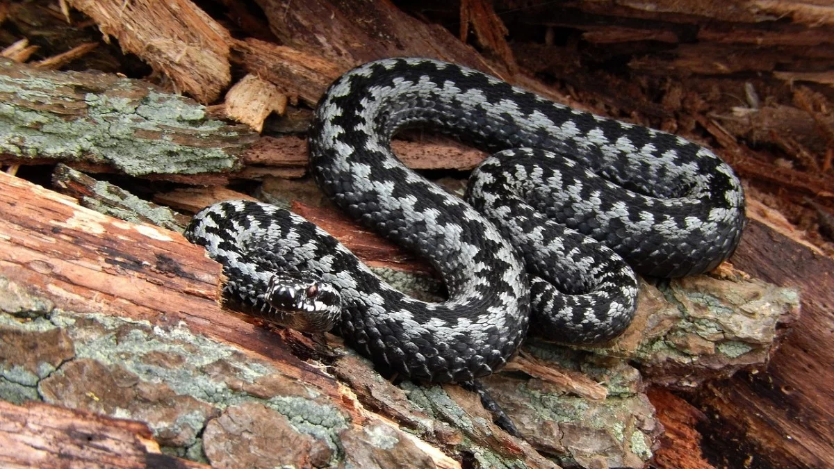
[[(463, 199), (394, 154), (394, 134), (413, 127), (491, 154)], [(307, 137), (319, 189), (427, 260), (445, 300), (405, 295), (324, 229), (272, 204), (210, 205), (185, 236), (223, 265), (224, 298), (237, 307), (298, 330), (333, 330), (411, 379), (489, 375), (530, 331), (567, 344), (611, 340), (634, 316), (636, 273), (712, 270), (745, 224), (741, 183), (709, 149), (429, 58), (344, 73)]]

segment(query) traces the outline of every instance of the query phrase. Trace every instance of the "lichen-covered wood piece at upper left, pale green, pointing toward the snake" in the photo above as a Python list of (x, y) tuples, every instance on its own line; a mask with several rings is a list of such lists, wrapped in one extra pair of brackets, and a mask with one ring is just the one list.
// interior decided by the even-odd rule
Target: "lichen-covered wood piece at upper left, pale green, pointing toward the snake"
[[(94, 91), (78, 92), (84, 88)], [(84, 159), (132, 175), (229, 171), (254, 138), (243, 125), (208, 119), (205, 108), (188, 98), (96, 73), (48, 72), (3, 61), (0, 101), (3, 153)], [(206, 144), (209, 139), (214, 144)]]

